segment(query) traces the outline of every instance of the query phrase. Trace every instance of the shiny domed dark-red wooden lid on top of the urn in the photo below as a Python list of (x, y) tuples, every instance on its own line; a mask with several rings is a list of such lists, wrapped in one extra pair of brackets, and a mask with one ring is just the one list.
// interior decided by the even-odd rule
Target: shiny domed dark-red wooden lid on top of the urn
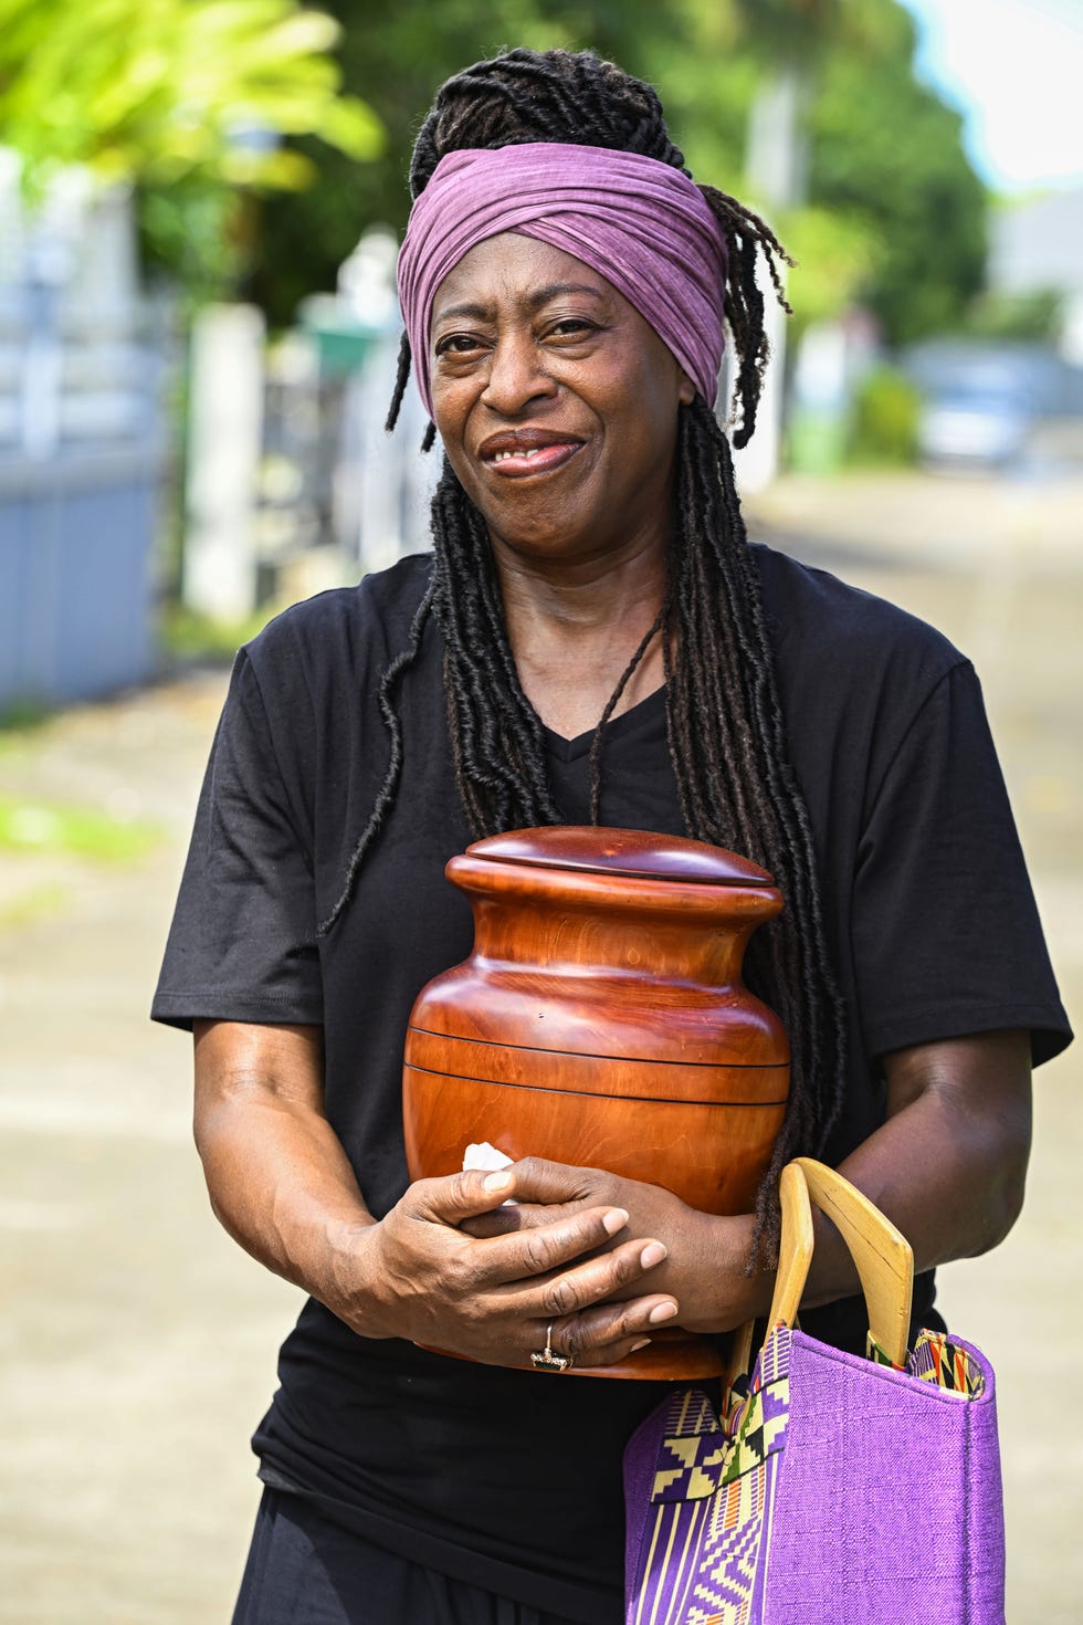
[(622, 874), (645, 881), (680, 881), (684, 886), (774, 886), (773, 878), (749, 858), (724, 847), (684, 835), (656, 835), (643, 829), (604, 829), (594, 824), (549, 824), (487, 835), (466, 848), (471, 858), (528, 864), (541, 869), (580, 869), (589, 874)]

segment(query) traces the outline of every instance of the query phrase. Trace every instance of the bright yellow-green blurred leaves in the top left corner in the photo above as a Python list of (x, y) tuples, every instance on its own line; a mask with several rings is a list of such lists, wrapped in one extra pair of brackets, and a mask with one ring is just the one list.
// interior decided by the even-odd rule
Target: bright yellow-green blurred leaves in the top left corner
[(292, 0), (5, 0), (0, 138), (31, 195), (63, 164), (304, 185), (312, 166), (276, 136), (318, 133), (354, 161), (380, 146), (370, 109), (338, 94), (336, 39)]

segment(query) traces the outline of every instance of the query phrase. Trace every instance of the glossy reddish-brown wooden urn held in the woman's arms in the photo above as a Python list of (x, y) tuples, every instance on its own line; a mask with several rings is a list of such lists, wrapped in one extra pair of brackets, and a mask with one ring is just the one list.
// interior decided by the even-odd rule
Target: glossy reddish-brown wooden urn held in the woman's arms
[[(703, 842), (570, 826), (474, 842), (447, 876), (471, 900), (474, 951), (411, 1014), (411, 1178), (455, 1173), (489, 1141), (749, 1212), (789, 1090), (781, 1022), (740, 980), (749, 938), (783, 908), (771, 876)], [(589, 1375), (721, 1370), (719, 1339), (669, 1329)]]

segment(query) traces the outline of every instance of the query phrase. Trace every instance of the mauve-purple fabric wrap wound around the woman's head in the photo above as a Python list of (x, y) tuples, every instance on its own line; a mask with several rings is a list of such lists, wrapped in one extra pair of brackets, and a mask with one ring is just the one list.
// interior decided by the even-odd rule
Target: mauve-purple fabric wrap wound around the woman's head
[(417, 387), (432, 416), (429, 323), (443, 278), (502, 231), (593, 266), (645, 317), (708, 403), (723, 359), (726, 244), (693, 180), (640, 153), (529, 141), (448, 153), (411, 210), (398, 262)]

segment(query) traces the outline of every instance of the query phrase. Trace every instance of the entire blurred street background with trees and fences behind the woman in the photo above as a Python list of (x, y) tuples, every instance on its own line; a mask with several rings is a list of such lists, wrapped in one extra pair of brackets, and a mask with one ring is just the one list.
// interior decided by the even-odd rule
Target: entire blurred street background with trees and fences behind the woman
[[(427, 544), (419, 405), (382, 427), (408, 154), (510, 44), (654, 81), (800, 262), (750, 528), (976, 660), (1080, 1008), (1080, 0), (0, 0), (5, 1625), (229, 1617), (297, 1297), (216, 1230), (146, 1009), (232, 652)], [(1013, 1235), (943, 1272), (1012, 1625), (1083, 1617), (1081, 1072), (1038, 1077)]]

